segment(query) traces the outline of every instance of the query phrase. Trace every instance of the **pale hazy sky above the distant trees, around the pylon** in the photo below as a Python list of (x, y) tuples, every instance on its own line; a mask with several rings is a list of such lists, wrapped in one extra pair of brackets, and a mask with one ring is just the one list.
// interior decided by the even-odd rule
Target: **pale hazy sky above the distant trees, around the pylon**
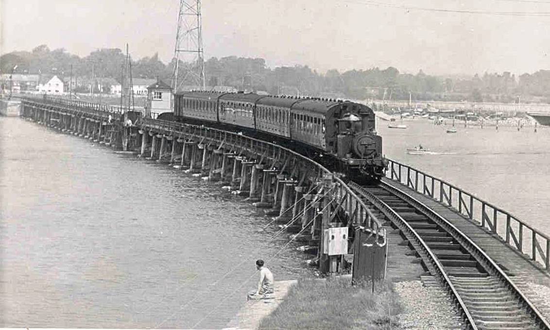
[[(1, 53), (47, 44), (84, 56), (128, 42), (134, 59), (155, 52), (165, 63), (173, 57), (179, 0), (0, 3)], [(550, 0), (203, 0), (202, 21), (206, 58), (261, 57), (272, 67), (320, 71), (550, 69)]]

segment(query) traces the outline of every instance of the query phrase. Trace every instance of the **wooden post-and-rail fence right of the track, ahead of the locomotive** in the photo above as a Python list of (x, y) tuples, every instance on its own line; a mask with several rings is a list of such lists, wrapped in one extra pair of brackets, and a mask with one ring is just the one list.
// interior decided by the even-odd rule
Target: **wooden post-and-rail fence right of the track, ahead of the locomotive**
[[(416, 192), (427, 195), (445, 206), (454, 208), (470, 221), (476, 222), (493, 234), (497, 234), (510, 247), (530, 256), (531, 260), (540, 262), (546, 271), (550, 270), (550, 238), (546, 234), (527, 225), (510, 212), (498, 208), (452, 183), (428, 175), (398, 161), (392, 159), (388, 159), (388, 161), (389, 171), (386, 172), (386, 177), (398, 181)], [(404, 172), (405, 176), (403, 175)], [(438, 194), (436, 194), (436, 190), (439, 191)], [(475, 208), (474, 204), (477, 204), (478, 208)], [(490, 213), (492, 214), (489, 215)], [(499, 216), (505, 218), (504, 234), (499, 231), (499, 225), (502, 226)], [(477, 219), (478, 217), (480, 219)], [(517, 229), (514, 229), (514, 227)], [(530, 234), (527, 231), (530, 231)], [(539, 238), (542, 242), (539, 242)], [(529, 252), (524, 249), (525, 240), (527, 240), (527, 245), (530, 247)], [(539, 257), (537, 258), (537, 256)]]

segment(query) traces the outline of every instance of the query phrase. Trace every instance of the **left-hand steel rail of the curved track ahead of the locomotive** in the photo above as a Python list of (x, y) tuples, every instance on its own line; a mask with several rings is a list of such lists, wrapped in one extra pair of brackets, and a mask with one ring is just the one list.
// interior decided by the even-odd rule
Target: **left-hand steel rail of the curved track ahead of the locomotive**
[(388, 204), (384, 203), (374, 194), (368, 192), (366, 189), (359, 186), (359, 184), (355, 182), (349, 182), (348, 186), (351, 189), (354, 189), (357, 193), (364, 196), (377, 209), (381, 210), (382, 213), (386, 217), (388, 217), (388, 219), (392, 219), (392, 222), (399, 227), (399, 229), (405, 234), (405, 237), (414, 246), (414, 249), (417, 251), (417, 253), (419, 253), (426, 267), (428, 267), (428, 270), (430, 270), (432, 275), (437, 276), (439, 280), (443, 282), (443, 286), (447, 289), (447, 292), (453, 299), (453, 302), (458, 309), (461, 317), (463, 318), (463, 321), (467, 323), (465, 325), (466, 328), (477, 330), (478, 328), (476, 326), (474, 318), (471, 316), (462, 298), (460, 298), (460, 294), (451, 282), (449, 276), (447, 275), (447, 272), (445, 272), (445, 270), (443, 269), (443, 265), (439, 261), (439, 258), (437, 258), (432, 249), (428, 247), (428, 245), (420, 237), (420, 235), (409, 225), (407, 221), (403, 219), (403, 217), (397, 214), (397, 212), (390, 208)]

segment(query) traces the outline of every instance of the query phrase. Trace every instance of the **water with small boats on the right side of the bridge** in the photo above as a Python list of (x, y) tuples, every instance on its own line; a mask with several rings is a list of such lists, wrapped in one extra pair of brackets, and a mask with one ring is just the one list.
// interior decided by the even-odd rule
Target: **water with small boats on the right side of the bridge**
[[(424, 119), (405, 120), (406, 130), (379, 121), (384, 153), (507, 210), (550, 235), (550, 128), (434, 126)], [(434, 155), (410, 155), (422, 144)]]

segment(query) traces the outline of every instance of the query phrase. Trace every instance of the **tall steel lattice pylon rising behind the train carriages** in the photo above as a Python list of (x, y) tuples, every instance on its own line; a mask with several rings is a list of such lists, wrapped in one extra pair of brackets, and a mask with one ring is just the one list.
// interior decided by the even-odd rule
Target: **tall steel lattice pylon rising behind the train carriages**
[[(175, 38), (175, 66), (172, 74), (174, 93), (185, 81), (189, 81), (191, 85), (200, 86), (205, 90), (201, 0), (180, 0)], [(182, 60), (184, 68), (180, 68), (180, 60)]]

